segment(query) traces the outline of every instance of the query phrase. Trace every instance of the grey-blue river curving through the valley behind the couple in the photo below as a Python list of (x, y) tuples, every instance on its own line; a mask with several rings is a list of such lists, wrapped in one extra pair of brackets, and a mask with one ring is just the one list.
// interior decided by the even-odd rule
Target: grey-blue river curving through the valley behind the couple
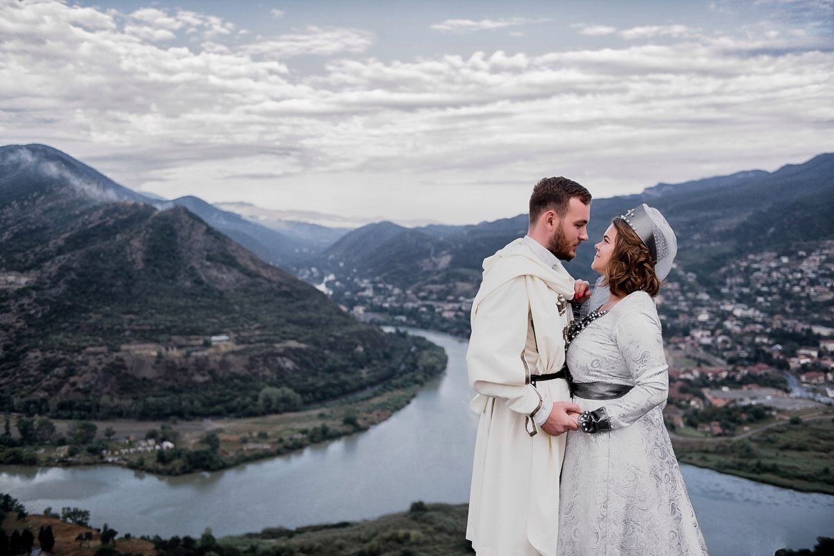
[[(371, 519), (414, 500), (466, 502), (476, 415), (466, 403), (466, 342), (421, 331), (449, 355), (445, 375), (391, 419), (299, 454), (215, 473), (158, 477), (109, 466), (0, 466), (0, 492), (40, 513), (88, 509), (119, 534), (217, 536), (283, 525)], [(771, 556), (834, 537), (834, 496), (682, 467), (712, 556)]]

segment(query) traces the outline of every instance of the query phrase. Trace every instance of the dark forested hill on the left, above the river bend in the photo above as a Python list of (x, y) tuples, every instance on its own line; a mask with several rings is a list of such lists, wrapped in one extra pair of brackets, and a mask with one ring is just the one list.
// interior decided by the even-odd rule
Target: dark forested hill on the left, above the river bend
[(442, 366), (184, 208), (30, 154), (0, 153), (0, 410), (252, 415)]

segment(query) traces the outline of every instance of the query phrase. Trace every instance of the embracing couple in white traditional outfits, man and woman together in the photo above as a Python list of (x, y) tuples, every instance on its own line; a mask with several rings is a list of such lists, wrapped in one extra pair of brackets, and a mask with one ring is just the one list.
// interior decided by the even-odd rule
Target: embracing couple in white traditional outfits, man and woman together
[(662, 414), (653, 298), (676, 237), (649, 206), (615, 216), (591, 295), (560, 262), (588, 239), (590, 201), (575, 181), (541, 180), (527, 236), (484, 261), (466, 356), (480, 414), (466, 538), (481, 556), (706, 555)]

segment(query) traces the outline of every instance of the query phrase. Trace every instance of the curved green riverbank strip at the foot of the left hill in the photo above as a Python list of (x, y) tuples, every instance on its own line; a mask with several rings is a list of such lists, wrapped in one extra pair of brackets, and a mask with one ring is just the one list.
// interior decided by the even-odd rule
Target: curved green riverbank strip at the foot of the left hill
[[(216, 471), (298, 452), (356, 434), (401, 410), (448, 363), (440, 346), (423, 349), (384, 383), (301, 410), (201, 420), (55, 420), (7, 416), (0, 464), (68, 467), (112, 464), (161, 475)], [(278, 391), (276, 389), (276, 391)], [(280, 392), (278, 391), (278, 394)], [(13, 426), (18, 434), (12, 435)]]

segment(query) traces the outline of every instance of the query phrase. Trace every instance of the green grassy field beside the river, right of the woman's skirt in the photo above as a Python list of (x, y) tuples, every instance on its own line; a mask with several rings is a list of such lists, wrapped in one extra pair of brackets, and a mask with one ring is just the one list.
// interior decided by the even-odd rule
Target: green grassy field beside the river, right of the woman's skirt
[(834, 494), (834, 418), (780, 424), (745, 439), (678, 439), (682, 464), (715, 469), (787, 489)]

